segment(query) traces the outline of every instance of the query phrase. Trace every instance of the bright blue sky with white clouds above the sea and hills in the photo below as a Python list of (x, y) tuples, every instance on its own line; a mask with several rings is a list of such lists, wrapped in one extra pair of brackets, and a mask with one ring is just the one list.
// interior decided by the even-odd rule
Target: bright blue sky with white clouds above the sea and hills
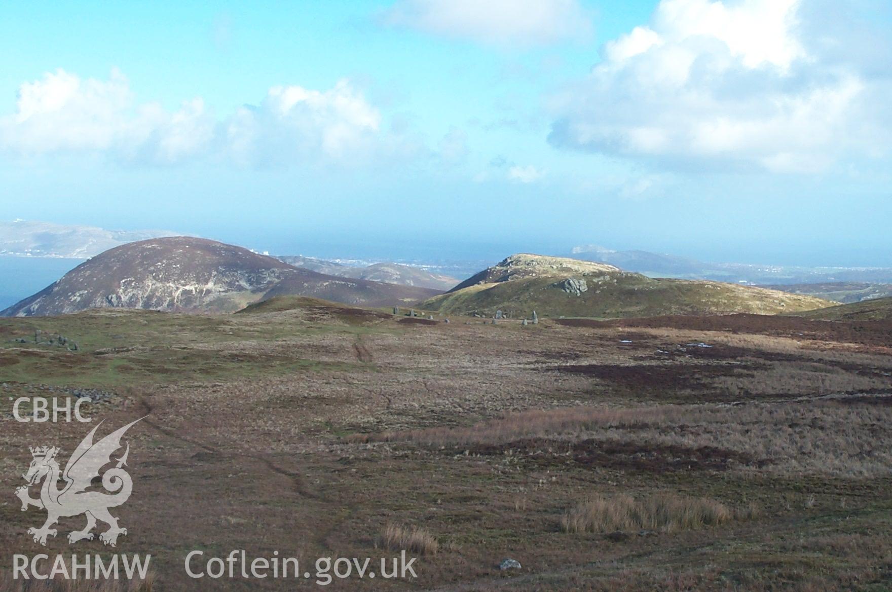
[(12, 3), (5, 218), (892, 266), (880, 0)]

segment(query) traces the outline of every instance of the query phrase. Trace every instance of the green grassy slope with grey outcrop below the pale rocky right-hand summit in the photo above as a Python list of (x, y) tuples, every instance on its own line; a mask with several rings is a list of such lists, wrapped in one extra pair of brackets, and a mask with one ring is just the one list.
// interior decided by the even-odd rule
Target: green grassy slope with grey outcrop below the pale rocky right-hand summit
[[(569, 280), (575, 280), (569, 281)], [(584, 282), (584, 291), (582, 283)], [(528, 317), (652, 317), (659, 315), (776, 315), (831, 306), (827, 300), (719, 282), (654, 279), (619, 271), (529, 275), (469, 285), (425, 300), (447, 314), (491, 316), (513, 310)]]

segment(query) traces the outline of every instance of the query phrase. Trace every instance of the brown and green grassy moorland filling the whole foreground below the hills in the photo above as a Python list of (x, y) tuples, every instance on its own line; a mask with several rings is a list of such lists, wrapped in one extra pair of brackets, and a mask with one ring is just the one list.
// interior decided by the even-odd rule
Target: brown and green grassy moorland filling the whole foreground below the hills
[[(78, 351), (34, 343), (37, 329)], [(312, 562), (401, 548), (417, 580), (327, 588), (892, 587), (888, 321), (447, 324), (294, 300), (0, 319), (0, 341), (4, 557), (72, 551), (62, 533), (81, 519), (39, 547), (26, 530), (43, 514), (13, 491), (29, 446), (67, 458), (92, 429), (15, 422), (12, 399), (87, 393), (108, 428), (148, 415), (128, 432), (134, 493), (114, 549), (153, 555), (142, 590), (315, 587), (196, 583), (193, 549)], [(522, 567), (500, 571), (506, 558)], [(40, 586), (0, 579), (129, 589)]]

